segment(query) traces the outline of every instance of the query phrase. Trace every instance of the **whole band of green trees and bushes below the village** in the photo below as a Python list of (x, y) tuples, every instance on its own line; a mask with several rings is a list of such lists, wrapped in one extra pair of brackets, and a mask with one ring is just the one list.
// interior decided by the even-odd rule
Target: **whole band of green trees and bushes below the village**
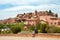
[[(2, 34), (19, 33), (21, 31), (25, 31), (24, 26), (25, 25), (23, 22), (19, 22), (19, 23), (15, 23), (15, 24), (13, 24), (13, 23), (0, 24), (0, 33), (2, 33)], [(10, 28), (10, 30), (1, 31), (1, 29), (6, 29), (6, 28)], [(56, 27), (54, 25), (42, 24), (42, 23), (38, 23), (36, 26), (31, 25), (30, 28), (28, 29), (28, 31), (33, 32), (35, 30), (35, 28), (37, 29), (37, 31), (39, 33), (60, 33), (60, 27)]]

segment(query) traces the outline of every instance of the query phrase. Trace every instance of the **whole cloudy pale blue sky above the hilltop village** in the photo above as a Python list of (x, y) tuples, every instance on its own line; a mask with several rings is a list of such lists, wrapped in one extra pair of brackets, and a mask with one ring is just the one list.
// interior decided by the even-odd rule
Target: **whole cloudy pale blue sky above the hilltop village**
[(60, 0), (0, 0), (0, 20), (35, 10), (52, 10), (60, 17)]

